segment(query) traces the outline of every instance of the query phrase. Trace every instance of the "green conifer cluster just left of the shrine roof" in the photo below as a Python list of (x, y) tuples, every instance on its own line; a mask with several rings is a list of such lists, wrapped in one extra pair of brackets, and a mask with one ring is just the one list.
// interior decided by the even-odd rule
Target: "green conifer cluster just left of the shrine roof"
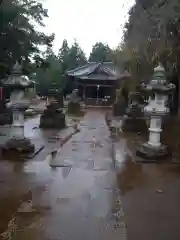
[(66, 71), (82, 66), (87, 63), (84, 52), (78, 45), (74, 43), (69, 47), (67, 40), (64, 40), (56, 56), (51, 48), (47, 48), (44, 54), (44, 61), (40, 61), (40, 67), (36, 70), (37, 92), (46, 95), (51, 87), (69, 91), (73, 89), (72, 84), (69, 85), (65, 76)]

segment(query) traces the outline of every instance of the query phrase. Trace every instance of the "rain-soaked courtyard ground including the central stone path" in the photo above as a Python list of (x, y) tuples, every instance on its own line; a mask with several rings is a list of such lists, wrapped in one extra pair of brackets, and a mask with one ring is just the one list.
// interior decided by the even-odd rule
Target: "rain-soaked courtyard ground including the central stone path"
[(143, 136), (122, 133), (114, 143), (115, 174), (104, 113), (90, 110), (59, 152), (62, 167), (50, 168), (46, 156), (59, 147), (52, 136), (67, 129), (26, 124), (45, 149), (24, 163), (0, 162), (2, 239), (180, 239), (180, 165), (136, 164)]

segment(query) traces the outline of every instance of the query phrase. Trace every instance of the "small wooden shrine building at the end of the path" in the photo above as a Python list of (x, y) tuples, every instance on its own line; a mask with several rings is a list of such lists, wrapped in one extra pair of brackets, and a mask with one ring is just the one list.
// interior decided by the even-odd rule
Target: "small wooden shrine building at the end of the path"
[(86, 104), (109, 104), (115, 99), (115, 90), (121, 81), (128, 80), (131, 75), (122, 67), (112, 62), (89, 62), (66, 73), (68, 81), (75, 83), (79, 96)]

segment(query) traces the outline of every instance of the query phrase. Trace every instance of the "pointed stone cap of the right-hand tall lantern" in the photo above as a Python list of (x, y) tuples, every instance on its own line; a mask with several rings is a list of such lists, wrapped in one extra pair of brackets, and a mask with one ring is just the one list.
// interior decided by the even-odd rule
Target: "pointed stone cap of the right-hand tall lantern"
[(154, 92), (171, 92), (175, 89), (175, 85), (168, 83), (165, 75), (165, 69), (159, 64), (154, 68), (154, 74), (148, 84), (142, 83), (141, 87), (145, 91)]

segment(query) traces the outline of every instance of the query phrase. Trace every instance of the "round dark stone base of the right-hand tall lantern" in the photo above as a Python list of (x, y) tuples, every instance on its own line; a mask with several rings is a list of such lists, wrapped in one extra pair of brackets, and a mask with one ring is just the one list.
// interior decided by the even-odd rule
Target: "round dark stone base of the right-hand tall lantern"
[(160, 147), (153, 147), (148, 143), (143, 143), (140, 144), (136, 149), (136, 156), (143, 158), (142, 161), (137, 160), (138, 162), (156, 162), (158, 160), (164, 160), (165, 157), (168, 157), (170, 155), (171, 151), (165, 145), (161, 145)]

